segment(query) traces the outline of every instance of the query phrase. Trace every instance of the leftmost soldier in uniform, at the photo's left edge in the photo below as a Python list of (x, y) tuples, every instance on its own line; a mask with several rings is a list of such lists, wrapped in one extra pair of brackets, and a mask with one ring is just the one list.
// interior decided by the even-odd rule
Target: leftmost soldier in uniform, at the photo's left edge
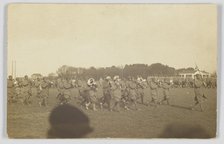
[(15, 85), (11, 75), (7, 80), (7, 95), (8, 95), (8, 103), (12, 103), (15, 99)]

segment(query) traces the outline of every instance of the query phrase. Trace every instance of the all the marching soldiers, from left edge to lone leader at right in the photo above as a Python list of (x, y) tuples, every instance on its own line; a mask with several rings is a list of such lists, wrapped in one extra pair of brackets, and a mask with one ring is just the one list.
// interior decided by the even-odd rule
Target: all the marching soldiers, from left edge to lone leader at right
[[(35, 88), (35, 94), (39, 98), (40, 106), (48, 105), (49, 97), (49, 88), (51, 82), (47, 80), (46, 77), (43, 79), (37, 78), (32, 85)], [(20, 82), (13, 80), (12, 76), (9, 76), (8, 79), (8, 102), (13, 101), (21, 102), (24, 105), (31, 104), (31, 83), (28, 76), (25, 76), (24, 79)], [(192, 109), (195, 109), (196, 106), (200, 106), (201, 111), (203, 111), (202, 103), (207, 99), (205, 97), (202, 87), (204, 82), (201, 75), (196, 75), (194, 79), (194, 92), (195, 92), (195, 104)], [(169, 78), (165, 78), (162, 83), (158, 85), (158, 82), (153, 77), (148, 77), (143, 79), (138, 76), (137, 79), (120, 79), (119, 76), (110, 76), (100, 79), (96, 82), (93, 78), (90, 78), (86, 81), (75, 80), (71, 81), (69, 79), (59, 78), (55, 83), (57, 88), (57, 96), (59, 104), (67, 104), (72, 100), (71, 89), (76, 87), (78, 89), (80, 104), (85, 107), (85, 109), (97, 110), (99, 108), (106, 107), (109, 111), (119, 111), (121, 107), (125, 110), (129, 110), (130, 107), (134, 106), (134, 109), (138, 109), (137, 101), (140, 100), (141, 104), (151, 105), (157, 107), (159, 104), (169, 105), (170, 99), (170, 88), (171, 83)], [(149, 87), (151, 94), (151, 101), (144, 102), (144, 89)], [(158, 98), (158, 88), (162, 88), (163, 98), (159, 100)], [(102, 89), (102, 94), (98, 93), (98, 89)]]

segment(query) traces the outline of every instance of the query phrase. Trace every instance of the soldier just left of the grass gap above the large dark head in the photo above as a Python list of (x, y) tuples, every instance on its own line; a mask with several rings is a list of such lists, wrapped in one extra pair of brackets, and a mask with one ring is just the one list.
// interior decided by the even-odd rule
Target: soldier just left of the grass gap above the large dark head
[(40, 83), (40, 107), (48, 105), (49, 87), (50, 83), (47, 81), (46, 77), (44, 77), (43, 81)]

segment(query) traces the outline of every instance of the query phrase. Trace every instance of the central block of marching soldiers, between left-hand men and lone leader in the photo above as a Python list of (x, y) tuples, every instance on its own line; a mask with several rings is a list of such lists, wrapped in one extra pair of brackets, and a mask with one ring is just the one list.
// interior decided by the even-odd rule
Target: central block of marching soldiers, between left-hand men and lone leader
[[(77, 80), (76, 83), (69, 83), (69, 80), (58, 79), (56, 87), (59, 94), (57, 98), (60, 104), (69, 103), (71, 100), (71, 86), (75, 85), (81, 97), (81, 106), (87, 110), (92, 108), (96, 111), (98, 105), (101, 109), (107, 107), (109, 111), (119, 111), (122, 106), (125, 110), (129, 110), (128, 104), (137, 107), (137, 100), (141, 99), (144, 103), (144, 89), (148, 86), (151, 88), (152, 101), (151, 104), (156, 106), (158, 103), (166, 101), (169, 104), (169, 79), (166, 79), (163, 84), (164, 99), (158, 101), (158, 85), (155, 78), (150, 78), (148, 81), (142, 77), (137, 79), (129, 78), (129, 80), (121, 80), (119, 76), (105, 77), (96, 82), (93, 78), (85, 81)], [(99, 88), (102, 89), (102, 94), (99, 94)]]

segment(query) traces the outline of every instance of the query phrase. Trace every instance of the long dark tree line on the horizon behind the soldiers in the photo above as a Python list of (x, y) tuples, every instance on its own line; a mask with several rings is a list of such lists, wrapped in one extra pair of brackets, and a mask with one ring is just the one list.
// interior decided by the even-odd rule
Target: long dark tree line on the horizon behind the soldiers
[[(193, 68), (190, 68), (193, 69)], [(183, 70), (183, 69), (182, 69)], [(147, 64), (130, 64), (125, 66), (111, 66), (111, 67), (73, 67), (63, 65), (58, 68), (57, 75), (64, 78), (103, 78), (105, 76), (119, 75), (122, 78), (142, 76), (147, 78), (148, 76), (175, 76), (178, 74), (178, 70), (168, 65), (161, 63)]]

